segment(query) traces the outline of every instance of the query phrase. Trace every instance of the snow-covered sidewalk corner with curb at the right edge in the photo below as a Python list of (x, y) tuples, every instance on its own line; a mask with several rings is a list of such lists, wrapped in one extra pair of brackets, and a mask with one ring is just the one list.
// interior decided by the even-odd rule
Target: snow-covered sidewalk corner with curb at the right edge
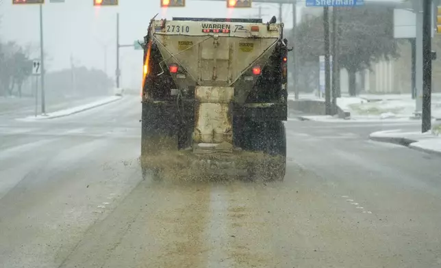
[(414, 150), (420, 150), (441, 156), (441, 126), (436, 126), (426, 133), (403, 132), (400, 129), (393, 131), (378, 131), (370, 133), (369, 139), (377, 142), (388, 142), (407, 146)]

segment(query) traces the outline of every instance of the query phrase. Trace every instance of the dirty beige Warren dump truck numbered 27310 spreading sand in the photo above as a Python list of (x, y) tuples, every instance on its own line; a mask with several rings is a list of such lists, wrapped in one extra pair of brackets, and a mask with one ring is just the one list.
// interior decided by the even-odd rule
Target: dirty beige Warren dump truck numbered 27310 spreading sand
[(153, 18), (142, 43), (142, 174), (283, 180), (287, 45), (275, 17)]

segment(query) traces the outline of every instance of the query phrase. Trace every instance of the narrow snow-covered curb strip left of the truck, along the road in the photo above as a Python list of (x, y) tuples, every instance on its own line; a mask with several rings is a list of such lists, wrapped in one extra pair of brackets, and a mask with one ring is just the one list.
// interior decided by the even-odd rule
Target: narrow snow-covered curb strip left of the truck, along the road
[(88, 109), (92, 109), (95, 107), (99, 107), (101, 105), (106, 105), (108, 103), (113, 103), (116, 100), (120, 100), (123, 98), (122, 96), (108, 96), (106, 98), (102, 98), (101, 100), (94, 101), (92, 103), (87, 103), (85, 105), (79, 105), (77, 107), (72, 107), (68, 109), (62, 109), (60, 111), (54, 111), (52, 113), (46, 113), (44, 115), (38, 116), (27, 116), (26, 118), (17, 118), (18, 121), (36, 121), (36, 120), (45, 120), (45, 119), (53, 119), (60, 118), (63, 116), (70, 116), (74, 113), (79, 113), (81, 111), (86, 111)]

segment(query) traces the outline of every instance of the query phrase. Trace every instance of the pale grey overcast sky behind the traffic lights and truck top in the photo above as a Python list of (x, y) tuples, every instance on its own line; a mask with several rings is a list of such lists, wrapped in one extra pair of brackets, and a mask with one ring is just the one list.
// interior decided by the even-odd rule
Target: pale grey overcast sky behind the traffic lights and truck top
[[(65, 3), (43, 5), (44, 47), (49, 55), (47, 69), (69, 68), (71, 54), (74, 63), (105, 70), (104, 45), (108, 45), (108, 75), (116, 68), (116, 12), (120, 14), (120, 42), (133, 44), (147, 34), (149, 20), (172, 16), (193, 17), (257, 17), (262, 5), (264, 21), (278, 15), (274, 4), (253, 3), (252, 9), (228, 10), (225, 1), (186, 0), (186, 8), (160, 8), (160, 0), (120, 0), (118, 7), (95, 8), (93, 0), (65, 0)], [(298, 10), (299, 14), (300, 10)], [(12, 5), (12, 0), (0, 0), (0, 39), (18, 44), (34, 44), (33, 57), (39, 49), (38, 5)], [(298, 16), (299, 17), (299, 16)], [(283, 22), (292, 27), (292, 8), (283, 5)], [(121, 85), (138, 87), (142, 76), (142, 51), (121, 48)]]

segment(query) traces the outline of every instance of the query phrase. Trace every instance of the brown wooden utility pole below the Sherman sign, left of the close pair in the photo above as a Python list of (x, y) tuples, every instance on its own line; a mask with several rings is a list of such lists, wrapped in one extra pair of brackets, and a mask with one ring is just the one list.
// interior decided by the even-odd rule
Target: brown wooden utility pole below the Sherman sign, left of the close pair
[(323, 29), (325, 32), (325, 113), (331, 115), (331, 70), (329, 64), (329, 7), (323, 7)]

